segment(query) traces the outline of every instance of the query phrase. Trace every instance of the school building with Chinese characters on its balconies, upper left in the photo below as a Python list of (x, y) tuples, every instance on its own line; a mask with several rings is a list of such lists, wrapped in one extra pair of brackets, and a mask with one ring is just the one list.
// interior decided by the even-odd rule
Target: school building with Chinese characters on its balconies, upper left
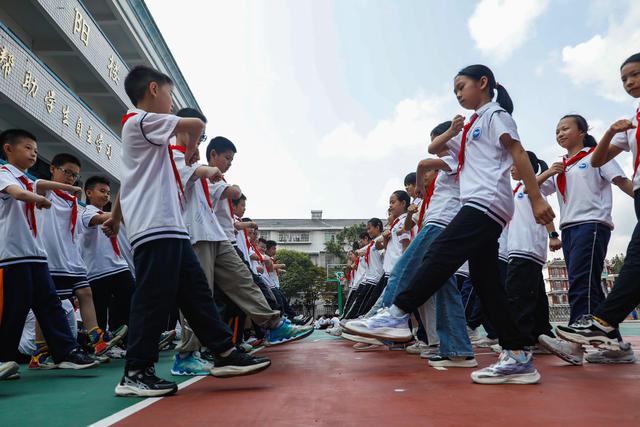
[(136, 65), (175, 82), (174, 106), (198, 108), (142, 0), (0, 0), (0, 131), (38, 138), (29, 170), (49, 178), (54, 155), (82, 161), (119, 187), (122, 115), (131, 107), (124, 79)]

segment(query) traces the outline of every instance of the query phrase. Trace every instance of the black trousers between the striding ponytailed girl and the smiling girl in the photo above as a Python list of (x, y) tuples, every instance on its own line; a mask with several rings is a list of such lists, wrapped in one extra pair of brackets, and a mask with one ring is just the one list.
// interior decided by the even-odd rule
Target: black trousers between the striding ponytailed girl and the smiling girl
[(555, 336), (549, 323), (549, 300), (540, 264), (525, 258), (509, 258), (506, 290), (513, 317), (529, 345), (535, 345), (540, 335)]

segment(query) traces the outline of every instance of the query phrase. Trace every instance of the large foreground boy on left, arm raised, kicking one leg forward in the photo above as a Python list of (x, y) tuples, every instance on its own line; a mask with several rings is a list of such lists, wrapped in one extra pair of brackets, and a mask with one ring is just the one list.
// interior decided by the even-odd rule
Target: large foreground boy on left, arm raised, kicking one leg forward
[(118, 396), (162, 396), (177, 385), (158, 378), (158, 338), (177, 303), (191, 327), (215, 355), (213, 376), (249, 375), (269, 367), (267, 358), (236, 351), (220, 320), (205, 276), (182, 220), (184, 189), (169, 139), (183, 134), (186, 163), (197, 151), (204, 122), (171, 115), (171, 79), (145, 66), (133, 68), (125, 90), (135, 108), (123, 117), (121, 187), (111, 218), (103, 224), (117, 235), (122, 218), (134, 248), (136, 288), (131, 300), (127, 363)]

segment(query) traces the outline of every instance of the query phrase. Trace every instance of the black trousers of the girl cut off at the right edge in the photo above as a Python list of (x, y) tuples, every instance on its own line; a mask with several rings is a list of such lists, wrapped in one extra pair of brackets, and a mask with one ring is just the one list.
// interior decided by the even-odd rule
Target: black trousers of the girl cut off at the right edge
[[(640, 219), (640, 190), (634, 192), (636, 219)], [(618, 326), (640, 303), (640, 223), (631, 235), (627, 255), (613, 290), (593, 313), (612, 326)]]

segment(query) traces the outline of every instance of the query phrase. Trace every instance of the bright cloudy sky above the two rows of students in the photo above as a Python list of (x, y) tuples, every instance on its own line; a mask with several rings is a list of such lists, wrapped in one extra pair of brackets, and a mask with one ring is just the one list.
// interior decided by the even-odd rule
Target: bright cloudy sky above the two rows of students
[[(633, 0), (146, 0), (202, 112), (237, 146), (226, 174), (253, 218), (384, 217), (389, 195), (456, 114), (453, 78), (489, 66), (527, 150), (551, 164), (565, 114), (599, 139), (635, 113), (619, 67), (640, 48)], [(631, 156), (617, 160), (631, 176)], [(609, 256), (633, 200), (614, 187)], [(558, 204), (549, 198), (556, 215)], [(558, 220), (556, 219), (556, 227)]]

